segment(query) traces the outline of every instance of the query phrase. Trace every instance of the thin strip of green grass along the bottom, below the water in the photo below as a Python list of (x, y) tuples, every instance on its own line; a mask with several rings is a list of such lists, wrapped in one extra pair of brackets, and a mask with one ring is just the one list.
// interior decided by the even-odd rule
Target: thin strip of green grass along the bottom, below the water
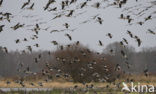
[(70, 90), (70, 89), (53, 89), (50, 91), (9, 91), (9, 92), (1, 92), (0, 94), (156, 94), (156, 93), (128, 93), (128, 92), (121, 92), (121, 91), (113, 91), (111, 89), (107, 90), (84, 90), (84, 89), (77, 89), (77, 90)]

